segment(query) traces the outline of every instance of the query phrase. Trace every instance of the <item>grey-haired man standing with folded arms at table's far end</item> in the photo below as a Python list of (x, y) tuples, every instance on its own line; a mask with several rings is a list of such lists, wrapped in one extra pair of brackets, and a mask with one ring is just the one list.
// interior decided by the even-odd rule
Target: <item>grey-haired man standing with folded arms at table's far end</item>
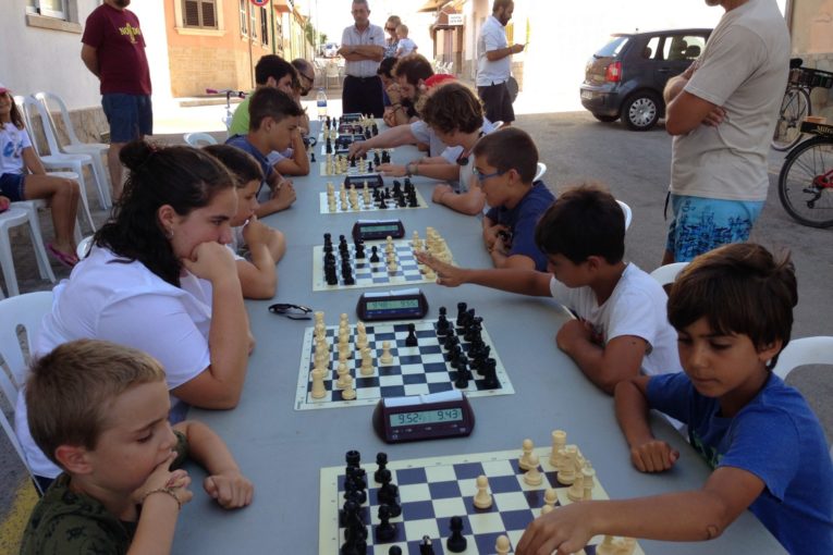
[(377, 75), (379, 62), (384, 57), (384, 32), (370, 24), (370, 7), (367, 0), (354, 0), (355, 25), (344, 28), (339, 54), (346, 60), (342, 107), (344, 113), (384, 113), (382, 81)]

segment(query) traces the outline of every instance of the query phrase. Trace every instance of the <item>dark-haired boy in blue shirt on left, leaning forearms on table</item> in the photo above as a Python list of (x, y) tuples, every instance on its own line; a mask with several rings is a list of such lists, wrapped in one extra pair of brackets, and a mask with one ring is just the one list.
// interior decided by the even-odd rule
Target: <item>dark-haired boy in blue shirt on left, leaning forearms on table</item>
[(295, 201), (292, 182), (284, 180), (272, 168), (268, 156), (273, 150), (282, 151), (290, 147), (304, 111), (290, 95), (272, 87), (256, 90), (252, 95), (248, 111), (248, 133), (234, 135), (225, 144), (248, 152), (260, 164), (264, 183), (269, 187), (270, 194), (260, 201), (255, 214), (264, 218), (285, 210)]

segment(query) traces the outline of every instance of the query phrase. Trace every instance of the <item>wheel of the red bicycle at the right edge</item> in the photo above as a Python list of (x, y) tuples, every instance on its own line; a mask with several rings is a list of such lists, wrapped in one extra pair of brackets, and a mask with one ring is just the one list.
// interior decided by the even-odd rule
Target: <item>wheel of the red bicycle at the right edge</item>
[(833, 139), (811, 138), (789, 152), (779, 175), (779, 197), (804, 225), (833, 225)]

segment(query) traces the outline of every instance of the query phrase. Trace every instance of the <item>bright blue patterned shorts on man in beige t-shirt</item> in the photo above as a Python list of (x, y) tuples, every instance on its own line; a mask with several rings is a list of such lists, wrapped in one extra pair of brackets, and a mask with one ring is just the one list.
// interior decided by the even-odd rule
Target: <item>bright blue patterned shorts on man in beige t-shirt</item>
[(730, 243), (749, 239), (763, 200), (723, 200), (671, 194), (674, 218), (669, 225), (665, 250), (675, 262), (689, 262), (698, 255)]

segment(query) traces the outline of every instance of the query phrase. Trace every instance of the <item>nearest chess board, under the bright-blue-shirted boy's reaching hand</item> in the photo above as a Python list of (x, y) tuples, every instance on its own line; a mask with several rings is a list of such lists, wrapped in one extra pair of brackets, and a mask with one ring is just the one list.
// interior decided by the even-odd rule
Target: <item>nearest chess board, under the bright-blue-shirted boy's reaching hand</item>
[[(375, 527), (379, 523), (377, 484), (373, 480), (376, 460), (365, 455), (363, 468), (367, 472), (368, 501), (362, 506), (360, 514), (368, 523), (367, 554), (388, 555), (388, 550), (397, 545), (403, 554), (419, 555), (419, 542), (422, 535), (431, 538), (431, 546), (437, 555), (450, 553), (445, 540), (450, 535), (451, 517), (463, 517), (463, 535), (467, 540), (464, 553), (485, 555), (497, 553), (494, 544), (499, 535), (510, 539), (511, 551), (517, 545), (527, 525), (537, 518), (543, 506), (543, 492), (547, 488), (555, 489), (559, 505), (572, 503), (567, 497), (568, 486), (558, 481), (558, 472), (550, 465), (550, 448), (536, 448), (539, 456), (539, 470), (544, 474), (541, 485), (528, 485), (524, 482), (524, 471), (518, 468), (520, 449), (475, 455), (394, 460), (388, 462), (399, 485), (402, 515), (391, 519), (396, 533), (392, 542), (377, 544)], [(489, 509), (477, 509), (473, 499), (477, 493), (475, 481), (478, 476), (489, 478), (489, 491), (493, 504)], [(321, 469), (320, 479), (320, 518), (318, 553), (338, 555), (344, 542), (344, 529), (339, 522), (339, 510), (344, 504), (344, 467)], [(598, 476), (593, 483), (593, 499), (607, 499), (608, 494)], [(587, 555), (596, 555), (597, 546), (603, 541), (595, 536), (585, 547)], [(639, 544), (634, 555), (645, 555)]]

